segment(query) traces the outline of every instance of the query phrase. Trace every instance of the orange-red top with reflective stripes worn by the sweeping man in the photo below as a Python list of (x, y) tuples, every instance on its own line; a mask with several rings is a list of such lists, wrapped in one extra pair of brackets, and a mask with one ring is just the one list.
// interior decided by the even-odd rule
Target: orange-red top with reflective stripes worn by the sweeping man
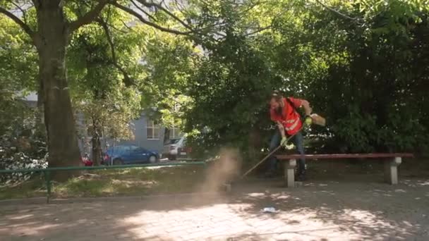
[[(299, 108), (302, 104), (302, 99), (295, 99), (289, 97), (291, 102), (296, 108)], [(282, 110), (282, 116), (274, 112), (273, 109), (270, 109), (271, 120), (279, 121), (284, 126), (284, 130), (288, 135), (294, 135), (303, 125), (301, 123), (301, 116), (294, 110), (294, 107), (289, 104), (289, 101), (286, 101), (286, 98), (283, 98), (284, 108)]]

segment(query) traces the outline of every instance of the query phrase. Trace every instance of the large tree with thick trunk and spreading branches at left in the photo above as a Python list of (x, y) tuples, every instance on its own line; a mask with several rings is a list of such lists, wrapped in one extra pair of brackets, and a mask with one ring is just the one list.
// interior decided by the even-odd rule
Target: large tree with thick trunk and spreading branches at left
[[(133, 8), (131, 8), (133, 6)], [(37, 50), (39, 66), (39, 97), (44, 103), (44, 121), (47, 128), (49, 166), (77, 165), (80, 161), (70, 92), (66, 78), (66, 47), (73, 32), (92, 23), (105, 8), (114, 7), (135, 16), (142, 23), (159, 30), (186, 35), (190, 25), (176, 17), (166, 6), (139, 1), (64, 1), (16, 0), (1, 1), (0, 13), (11, 18), (32, 40)], [(188, 30), (180, 31), (157, 25), (147, 9), (154, 8), (159, 15), (173, 18)], [(12, 10), (12, 11), (11, 11)], [(20, 11), (15, 15), (13, 11)], [(33, 16), (33, 18), (31, 18)], [(120, 67), (119, 63), (118, 66)], [(124, 79), (127, 79), (126, 73)], [(66, 175), (63, 178), (67, 178)]]

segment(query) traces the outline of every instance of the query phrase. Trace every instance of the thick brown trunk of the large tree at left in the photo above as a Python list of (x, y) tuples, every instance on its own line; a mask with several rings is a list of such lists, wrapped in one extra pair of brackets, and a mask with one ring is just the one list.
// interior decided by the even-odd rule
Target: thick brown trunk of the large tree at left
[[(37, 23), (40, 42), (36, 45), (43, 85), (49, 167), (79, 166), (80, 152), (66, 79), (68, 33), (59, 1), (42, 1), (37, 9)], [(55, 180), (60, 181), (73, 175), (71, 172), (53, 174)]]

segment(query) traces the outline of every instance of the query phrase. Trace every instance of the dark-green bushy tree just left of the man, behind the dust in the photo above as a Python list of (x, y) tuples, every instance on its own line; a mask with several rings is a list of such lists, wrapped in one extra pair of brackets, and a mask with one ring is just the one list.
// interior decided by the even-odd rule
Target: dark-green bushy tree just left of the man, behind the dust
[(275, 78), (255, 42), (258, 35), (269, 31), (272, 19), (264, 21), (252, 13), (261, 14), (258, 7), (269, 5), (260, 1), (212, 2), (200, 14), (207, 25), (216, 26), (218, 34), (195, 40), (205, 56), (191, 76), (188, 96), (192, 101), (184, 114), (185, 131), (199, 132), (191, 135), (195, 152), (217, 152), (219, 147), (230, 145), (243, 154), (254, 154), (253, 149), (260, 147), (255, 132), (269, 125), (264, 118), (265, 107)]

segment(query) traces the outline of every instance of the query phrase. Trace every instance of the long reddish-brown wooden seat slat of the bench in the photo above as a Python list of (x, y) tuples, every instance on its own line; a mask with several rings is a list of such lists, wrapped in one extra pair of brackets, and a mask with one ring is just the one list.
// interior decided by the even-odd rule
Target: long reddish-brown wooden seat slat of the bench
[(413, 157), (411, 153), (362, 153), (362, 154), (292, 154), (292, 155), (277, 155), (277, 159), (346, 159), (346, 158), (388, 158), (388, 157)]

